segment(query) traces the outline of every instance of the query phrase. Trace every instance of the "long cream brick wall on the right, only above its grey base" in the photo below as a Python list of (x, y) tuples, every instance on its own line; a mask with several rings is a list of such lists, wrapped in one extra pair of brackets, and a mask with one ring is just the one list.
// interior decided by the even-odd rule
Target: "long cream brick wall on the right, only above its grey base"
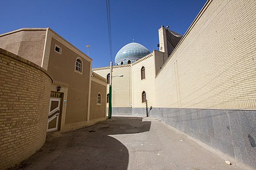
[(256, 108), (255, 4), (209, 3), (156, 76), (157, 107)]

